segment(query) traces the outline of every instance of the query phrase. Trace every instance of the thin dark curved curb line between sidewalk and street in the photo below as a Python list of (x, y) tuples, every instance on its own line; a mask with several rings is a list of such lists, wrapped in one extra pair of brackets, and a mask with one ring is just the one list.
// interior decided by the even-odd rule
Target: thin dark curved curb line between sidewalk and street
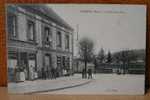
[(53, 91), (58, 91), (58, 90), (64, 90), (64, 89), (69, 89), (69, 88), (83, 86), (83, 85), (89, 84), (90, 82), (92, 82), (92, 80), (89, 80), (87, 82), (83, 82), (83, 83), (80, 83), (80, 84), (76, 84), (76, 85), (70, 85), (70, 86), (65, 86), (65, 87), (55, 88), (55, 89), (47, 89), (47, 90), (41, 90), (41, 91), (27, 92), (27, 93), (23, 93), (23, 94), (35, 94), (35, 93), (41, 93), (41, 92), (53, 92)]

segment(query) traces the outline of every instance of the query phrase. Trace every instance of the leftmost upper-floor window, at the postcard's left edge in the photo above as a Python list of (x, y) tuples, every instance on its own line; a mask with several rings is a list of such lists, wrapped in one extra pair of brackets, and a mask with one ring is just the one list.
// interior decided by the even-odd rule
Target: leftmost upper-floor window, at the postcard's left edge
[(8, 33), (9, 37), (16, 38), (17, 37), (17, 17), (14, 14), (8, 14), (7, 18), (7, 27), (8, 27)]

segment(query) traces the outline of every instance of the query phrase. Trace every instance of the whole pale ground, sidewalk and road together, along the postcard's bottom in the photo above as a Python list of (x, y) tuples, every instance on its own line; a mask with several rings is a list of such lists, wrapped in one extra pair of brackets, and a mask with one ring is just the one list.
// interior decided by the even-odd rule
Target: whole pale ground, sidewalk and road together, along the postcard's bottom
[(81, 74), (56, 80), (35, 80), (9, 83), (9, 93), (23, 94), (130, 94), (144, 93), (144, 75), (94, 74), (82, 79)]

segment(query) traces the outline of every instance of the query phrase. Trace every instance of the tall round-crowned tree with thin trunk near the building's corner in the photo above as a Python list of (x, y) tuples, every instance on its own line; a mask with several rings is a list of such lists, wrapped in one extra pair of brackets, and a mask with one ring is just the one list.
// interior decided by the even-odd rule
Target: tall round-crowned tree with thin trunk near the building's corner
[(86, 73), (87, 73), (87, 62), (90, 62), (92, 60), (93, 52), (94, 52), (94, 43), (91, 39), (83, 38), (79, 41), (79, 55), (80, 59), (85, 64)]

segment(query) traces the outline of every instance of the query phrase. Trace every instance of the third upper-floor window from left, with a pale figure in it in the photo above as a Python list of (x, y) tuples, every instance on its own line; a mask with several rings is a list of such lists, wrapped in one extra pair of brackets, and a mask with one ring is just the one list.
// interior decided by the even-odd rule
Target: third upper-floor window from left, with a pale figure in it
[(46, 46), (52, 45), (52, 34), (49, 27), (44, 28), (44, 41)]

